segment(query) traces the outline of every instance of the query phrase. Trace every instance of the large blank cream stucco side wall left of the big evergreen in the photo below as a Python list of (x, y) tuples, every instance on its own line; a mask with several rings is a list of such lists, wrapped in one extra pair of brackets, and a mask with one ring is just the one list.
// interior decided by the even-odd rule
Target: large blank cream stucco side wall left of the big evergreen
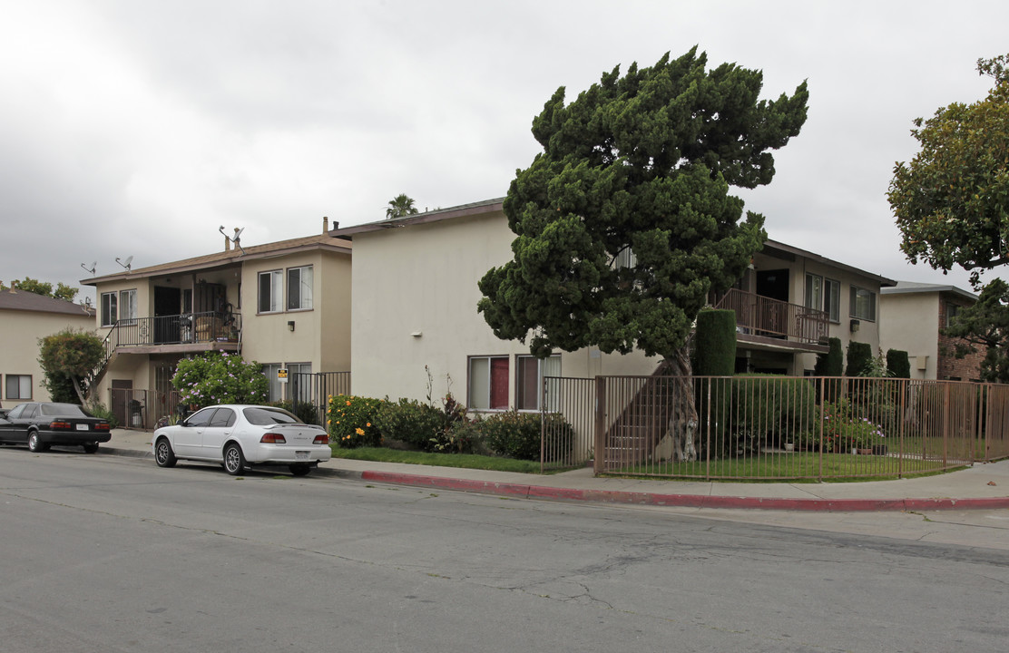
[[(353, 393), (424, 400), (427, 365), (435, 397), (450, 389), (466, 401), (468, 356), (509, 355), (514, 406), (515, 356), (529, 348), (494, 337), (476, 312), (477, 282), (512, 258), (514, 238), (499, 211), (354, 235)], [(564, 376), (648, 374), (657, 364), (639, 353), (561, 352)]]

